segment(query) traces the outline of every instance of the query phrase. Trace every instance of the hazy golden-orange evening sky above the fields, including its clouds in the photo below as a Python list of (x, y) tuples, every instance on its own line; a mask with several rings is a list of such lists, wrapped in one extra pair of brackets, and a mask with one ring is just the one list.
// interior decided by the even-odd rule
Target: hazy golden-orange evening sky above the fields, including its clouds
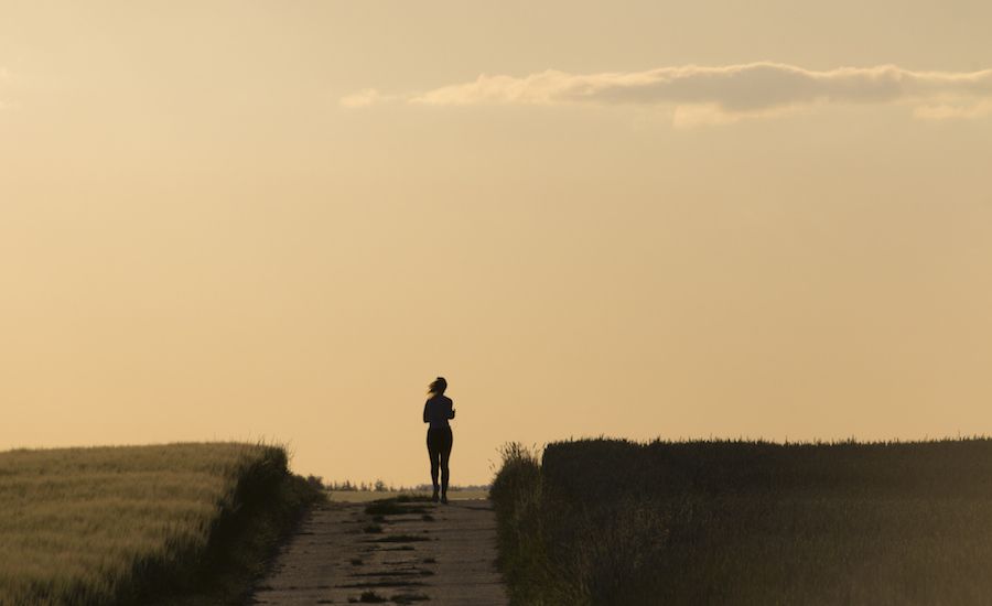
[(0, 447), (992, 434), (990, 22), (0, 0)]

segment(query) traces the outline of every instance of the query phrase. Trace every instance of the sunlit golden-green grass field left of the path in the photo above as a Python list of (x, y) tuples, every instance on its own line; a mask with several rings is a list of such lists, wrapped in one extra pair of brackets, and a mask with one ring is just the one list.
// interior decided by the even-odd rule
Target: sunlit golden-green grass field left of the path
[(0, 604), (241, 599), (314, 498), (274, 446), (0, 453)]

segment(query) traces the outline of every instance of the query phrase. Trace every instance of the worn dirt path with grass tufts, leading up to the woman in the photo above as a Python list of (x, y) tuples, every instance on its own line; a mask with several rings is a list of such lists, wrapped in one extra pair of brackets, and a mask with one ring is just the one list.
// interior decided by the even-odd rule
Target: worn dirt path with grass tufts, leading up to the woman
[(508, 604), (494, 563), (488, 500), (374, 507), (315, 509), (256, 587), (252, 604)]

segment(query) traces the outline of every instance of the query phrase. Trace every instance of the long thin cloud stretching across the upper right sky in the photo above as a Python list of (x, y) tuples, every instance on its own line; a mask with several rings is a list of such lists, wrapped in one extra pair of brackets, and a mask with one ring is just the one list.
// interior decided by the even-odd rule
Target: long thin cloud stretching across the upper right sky
[(666, 106), (672, 108), (676, 126), (732, 122), (829, 104), (912, 104), (919, 118), (974, 118), (992, 112), (992, 69), (914, 72), (880, 65), (815, 71), (769, 62), (602, 74), (549, 69), (522, 77), (482, 75), (474, 82), (407, 95), (369, 89), (343, 98), (342, 105), (382, 101), (435, 107)]

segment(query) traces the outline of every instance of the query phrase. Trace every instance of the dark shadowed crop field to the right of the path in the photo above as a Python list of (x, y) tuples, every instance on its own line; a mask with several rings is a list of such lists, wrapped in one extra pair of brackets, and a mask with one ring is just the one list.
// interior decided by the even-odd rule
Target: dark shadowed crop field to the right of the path
[(515, 604), (986, 604), (992, 441), (505, 453)]

